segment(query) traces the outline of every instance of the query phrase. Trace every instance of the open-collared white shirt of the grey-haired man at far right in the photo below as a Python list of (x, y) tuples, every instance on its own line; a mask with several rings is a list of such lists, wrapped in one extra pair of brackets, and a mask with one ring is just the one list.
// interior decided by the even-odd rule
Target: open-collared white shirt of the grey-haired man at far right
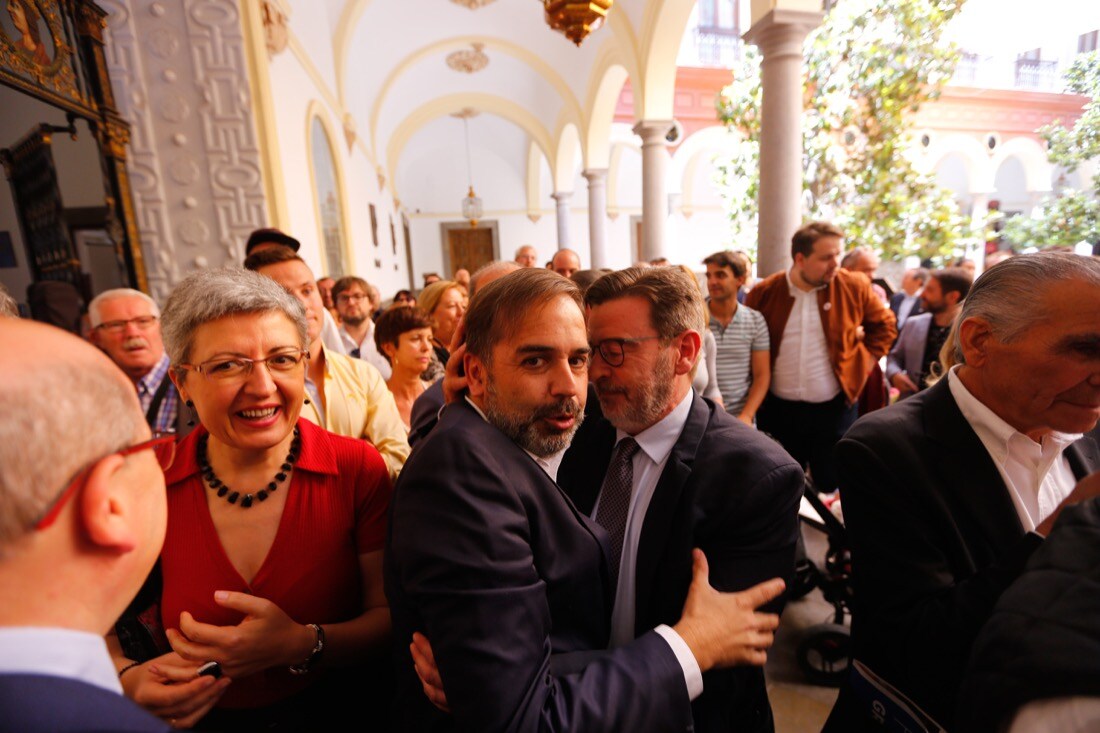
[(953, 366), (947, 374), (952, 396), (993, 459), (1024, 530), (1033, 532), (1077, 484), (1065, 450), (1081, 436), (1050, 433), (1042, 444), (1035, 442), (975, 397), (958, 370)]

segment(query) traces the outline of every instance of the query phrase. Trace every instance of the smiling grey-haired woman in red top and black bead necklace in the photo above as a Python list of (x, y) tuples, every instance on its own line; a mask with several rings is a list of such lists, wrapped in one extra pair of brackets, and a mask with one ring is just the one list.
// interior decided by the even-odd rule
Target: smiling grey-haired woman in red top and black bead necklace
[[(317, 683), (327, 670), (372, 652), (385, 665), (385, 463), (370, 444), (298, 419), (305, 317), (273, 281), (193, 275), (163, 331), (201, 426), (166, 474), (160, 606), (173, 652), (124, 670), (123, 688), (177, 727), (326, 730), (348, 702), (334, 682), (349, 679)], [(220, 680), (197, 676), (210, 661)]]

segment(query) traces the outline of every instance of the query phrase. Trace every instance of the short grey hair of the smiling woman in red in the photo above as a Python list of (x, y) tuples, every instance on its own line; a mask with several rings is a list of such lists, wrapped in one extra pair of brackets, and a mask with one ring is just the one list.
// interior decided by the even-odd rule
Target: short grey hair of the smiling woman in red
[(199, 326), (243, 314), (280, 313), (309, 344), (306, 309), (271, 277), (241, 267), (201, 270), (176, 285), (164, 307), (161, 332), (173, 366), (187, 363)]

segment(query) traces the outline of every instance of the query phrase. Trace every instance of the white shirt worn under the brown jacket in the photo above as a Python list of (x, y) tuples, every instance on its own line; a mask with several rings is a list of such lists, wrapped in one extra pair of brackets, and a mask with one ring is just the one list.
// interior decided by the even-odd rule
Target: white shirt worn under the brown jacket
[[(791, 282), (787, 271), (787, 287), (794, 298), (779, 343), (779, 355), (771, 372), (771, 392), (792, 402), (828, 402), (840, 392), (833, 372), (833, 362), (825, 341), (825, 327), (817, 310), (817, 291), (806, 293)], [(825, 307), (831, 307), (826, 303)]]

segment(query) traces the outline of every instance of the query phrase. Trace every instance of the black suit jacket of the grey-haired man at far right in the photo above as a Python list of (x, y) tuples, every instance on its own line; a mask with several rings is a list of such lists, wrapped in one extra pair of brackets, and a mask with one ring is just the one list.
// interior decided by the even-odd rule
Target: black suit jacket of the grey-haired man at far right
[[(970, 647), (1042, 544), (952, 396), (947, 379), (876, 411), (837, 444), (851, 544), (855, 656), (949, 731)], [(1096, 433), (1066, 449), (1100, 469)], [(872, 729), (842, 689), (826, 731)]]

